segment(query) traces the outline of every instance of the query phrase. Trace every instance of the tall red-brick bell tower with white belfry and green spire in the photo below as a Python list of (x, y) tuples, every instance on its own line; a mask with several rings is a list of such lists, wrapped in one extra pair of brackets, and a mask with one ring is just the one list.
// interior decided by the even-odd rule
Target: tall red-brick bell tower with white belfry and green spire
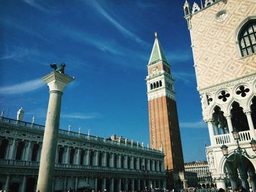
[(178, 126), (174, 79), (170, 65), (159, 44), (157, 32), (148, 61), (148, 118), (150, 144), (165, 153), (168, 172), (184, 171), (181, 136)]

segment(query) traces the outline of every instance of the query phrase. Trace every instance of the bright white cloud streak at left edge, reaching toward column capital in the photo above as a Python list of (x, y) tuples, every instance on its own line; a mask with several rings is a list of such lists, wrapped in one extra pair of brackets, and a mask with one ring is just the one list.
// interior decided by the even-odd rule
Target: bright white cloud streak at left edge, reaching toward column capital
[(45, 82), (42, 82), (41, 79), (30, 80), (26, 82), (21, 82), (19, 84), (0, 87), (0, 94), (19, 94), (19, 93), (26, 93), (30, 91), (37, 90), (42, 88), (45, 85)]

